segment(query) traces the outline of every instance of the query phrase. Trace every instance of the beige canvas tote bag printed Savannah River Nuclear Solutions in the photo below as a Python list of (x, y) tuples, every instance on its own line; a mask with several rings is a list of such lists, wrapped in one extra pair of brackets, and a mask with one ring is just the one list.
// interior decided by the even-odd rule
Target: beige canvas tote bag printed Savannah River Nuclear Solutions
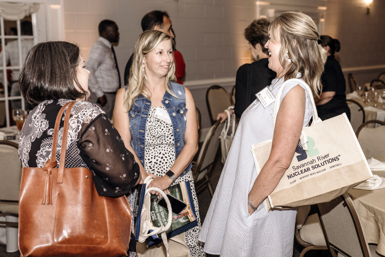
[[(310, 87), (300, 79), (283, 83), (276, 96), (274, 126), (285, 84), (298, 81), (312, 96)], [(321, 121), (314, 99), (313, 123), (303, 127), (300, 142), (288, 168), (275, 190), (264, 200), (266, 212), (330, 202), (373, 176), (346, 114)], [(251, 146), (257, 173), (269, 158), (268, 140)]]

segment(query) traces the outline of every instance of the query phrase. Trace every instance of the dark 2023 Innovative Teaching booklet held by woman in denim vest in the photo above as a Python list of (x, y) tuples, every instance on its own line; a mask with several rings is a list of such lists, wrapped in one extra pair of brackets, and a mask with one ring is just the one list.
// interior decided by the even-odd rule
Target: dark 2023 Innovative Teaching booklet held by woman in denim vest
[[(142, 212), (143, 202), (144, 202), (144, 193), (146, 191), (146, 184), (139, 184), (132, 188), (134, 199), (136, 202), (132, 207), (132, 218), (134, 218), (135, 225), (135, 239), (139, 239), (139, 229), (141, 224), (141, 217), (138, 213)], [(179, 184), (169, 187), (170, 195), (178, 198), (179, 200), (185, 202), (187, 207), (178, 215), (172, 213), (172, 224), (169, 230), (166, 231), (167, 238), (174, 237), (180, 233), (185, 232), (193, 227), (198, 226), (198, 221), (196, 219), (194, 202), (191, 195), (191, 186), (190, 181), (183, 181)], [(157, 201), (159, 196), (151, 195), (151, 223), (154, 227), (164, 227), (167, 225), (168, 210), (159, 206)], [(152, 232), (152, 230), (150, 230)], [(153, 235), (147, 238), (147, 245), (151, 247), (153, 245), (160, 244), (162, 242), (161, 234)]]

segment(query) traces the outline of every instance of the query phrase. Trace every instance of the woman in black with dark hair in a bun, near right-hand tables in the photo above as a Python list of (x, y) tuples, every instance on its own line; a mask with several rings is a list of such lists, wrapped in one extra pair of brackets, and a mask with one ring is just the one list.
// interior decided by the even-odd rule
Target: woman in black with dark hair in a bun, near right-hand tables
[(345, 77), (340, 64), (334, 57), (335, 52), (341, 49), (340, 41), (325, 35), (321, 36), (321, 40), (323, 49), (328, 52), (328, 59), (321, 76), (323, 87), (320, 98), (314, 99), (318, 116), (324, 121), (346, 113), (350, 120), (350, 109), (346, 103)]

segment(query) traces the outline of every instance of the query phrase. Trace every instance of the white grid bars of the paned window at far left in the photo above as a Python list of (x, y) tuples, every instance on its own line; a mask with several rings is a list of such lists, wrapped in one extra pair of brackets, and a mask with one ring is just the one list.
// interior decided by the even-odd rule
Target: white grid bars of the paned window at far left
[[(11, 70), (21, 70), (23, 65), (22, 60), (22, 48), (21, 48), (21, 40), (22, 39), (33, 39), (33, 45), (37, 44), (37, 22), (36, 22), (36, 13), (31, 14), (32, 18), (32, 32), (33, 35), (21, 35), (20, 29), (20, 20), (16, 21), (17, 24), (17, 36), (9, 36), (5, 35), (4, 31), (4, 18), (0, 16), (0, 39), (1, 39), (1, 47), (3, 52), (3, 66), (0, 66), (0, 72), (3, 72), (3, 85), (4, 85), (4, 97), (0, 97), (0, 101), (5, 101), (5, 117), (6, 117), (6, 126), (10, 126), (10, 115), (9, 115), (9, 101), (11, 100), (19, 100), (22, 101), (22, 109), (25, 109), (25, 102), (22, 96), (8, 96), (8, 79), (7, 79), (7, 69)], [(7, 66), (5, 63), (5, 39), (17, 39), (19, 46), (19, 65), (18, 66)]]

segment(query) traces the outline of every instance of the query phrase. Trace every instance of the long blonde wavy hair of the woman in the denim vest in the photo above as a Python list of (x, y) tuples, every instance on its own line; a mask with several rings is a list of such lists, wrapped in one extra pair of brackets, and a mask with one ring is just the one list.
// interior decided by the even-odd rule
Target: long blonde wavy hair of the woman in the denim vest
[[(128, 79), (128, 89), (124, 93), (124, 109), (126, 112), (131, 110), (132, 105), (135, 104), (135, 99), (139, 95), (142, 94), (148, 99), (151, 97), (149, 90), (144, 90), (146, 87), (145, 84), (148, 83), (148, 80), (146, 73), (144, 72), (142, 59), (146, 54), (154, 50), (155, 47), (157, 47), (157, 45), (159, 45), (163, 40), (171, 40), (172, 49), (174, 49), (174, 40), (172, 40), (166, 33), (157, 30), (146, 30), (140, 34), (136, 40), (134, 57)], [(172, 96), (177, 97), (174, 92), (172, 92), (169, 81), (176, 82), (175, 62), (172, 62), (169, 71), (167, 72), (164, 87)]]

